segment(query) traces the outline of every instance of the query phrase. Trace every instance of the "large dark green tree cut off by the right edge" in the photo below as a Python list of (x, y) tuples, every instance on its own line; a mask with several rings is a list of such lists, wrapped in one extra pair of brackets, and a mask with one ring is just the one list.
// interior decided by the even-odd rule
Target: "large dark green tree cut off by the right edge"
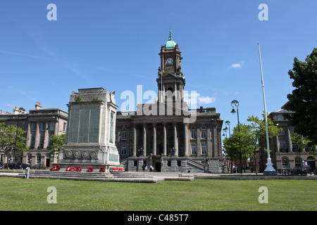
[(302, 62), (294, 58), (293, 70), (288, 72), (295, 89), (288, 94), (286, 110), (293, 111), (284, 115), (294, 131), (308, 140), (309, 146), (317, 145), (317, 49)]

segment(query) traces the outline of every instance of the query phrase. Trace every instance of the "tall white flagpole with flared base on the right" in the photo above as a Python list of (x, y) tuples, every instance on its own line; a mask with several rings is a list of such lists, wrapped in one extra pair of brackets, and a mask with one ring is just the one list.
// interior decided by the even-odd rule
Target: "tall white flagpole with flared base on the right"
[(260, 52), (260, 44), (258, 43), (258, 49), (259, 49), (259, 60), (260, 60), (260, 68), (261, 68), (261, 83), (262, 83), (262, 91), (263, 91), (263, 104), (264, 104), (264, 118), (266, 121), (266, 148), (268, 150), (268, 160), (266, 163), (266, 169), (264, 170), (263, 175), (265, 176), (272, 176), (272, 175), (276, 175), (276, 171), (273, 168), (273, 163), (271, 160), (271, 156), (270, 156), (270, 141), (269, 141), (269, 137), (268, 137), (268, 118), (267, 118), (267, 113), (266, 113), (266, 93), (264, 91), (264, 81), (263, 81), (263, 70), (262, 70), (262, 62), (261, 62), (261, 52)]

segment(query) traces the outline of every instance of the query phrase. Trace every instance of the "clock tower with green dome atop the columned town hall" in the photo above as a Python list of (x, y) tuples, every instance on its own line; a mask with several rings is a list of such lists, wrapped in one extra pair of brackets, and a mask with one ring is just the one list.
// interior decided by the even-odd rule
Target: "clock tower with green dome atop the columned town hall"
[(159, 90), (159, 101), (183, 101), (185, 77), (181, 71), (180, 48), (173, 41), (172, 31), (166, 44), (161, 46), (161, 66), (156, 82)]

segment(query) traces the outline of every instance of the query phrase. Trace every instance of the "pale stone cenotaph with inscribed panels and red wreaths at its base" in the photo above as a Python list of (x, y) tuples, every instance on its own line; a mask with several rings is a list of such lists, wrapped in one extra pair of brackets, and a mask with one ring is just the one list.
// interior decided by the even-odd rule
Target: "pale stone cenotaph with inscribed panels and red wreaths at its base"
[(57, 163), (61, 169), (109, 172), (110, 167), (120, 167), (115, 146), (118, 106), (114, 94), (92, 88), (78, 89), (70, 95), (66, 141)]

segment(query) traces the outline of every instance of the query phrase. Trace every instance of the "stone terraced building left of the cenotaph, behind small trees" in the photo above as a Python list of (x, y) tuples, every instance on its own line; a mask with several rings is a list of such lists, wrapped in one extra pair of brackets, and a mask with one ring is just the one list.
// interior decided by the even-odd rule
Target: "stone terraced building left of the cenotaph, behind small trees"
[[(42, 108), (41, 103), (35, 105), (34, 110), (27, 113), (20, 112), (15, 107), (13, 113), (0, 113), (0, 122), (6, 126), (16, 125), (24, 129), (27, 140), (27, 148), (22, 153), (17, 150), (1, 150), (0, 162), (23, 162), (31, 167), (50, 167), (57, 161), (57, 155), (48, 155), (51, 150), (51, 135), (66, 134), (68, 113), (59, 108)], [(1, 111), (0, 111), (1, 112)]]

